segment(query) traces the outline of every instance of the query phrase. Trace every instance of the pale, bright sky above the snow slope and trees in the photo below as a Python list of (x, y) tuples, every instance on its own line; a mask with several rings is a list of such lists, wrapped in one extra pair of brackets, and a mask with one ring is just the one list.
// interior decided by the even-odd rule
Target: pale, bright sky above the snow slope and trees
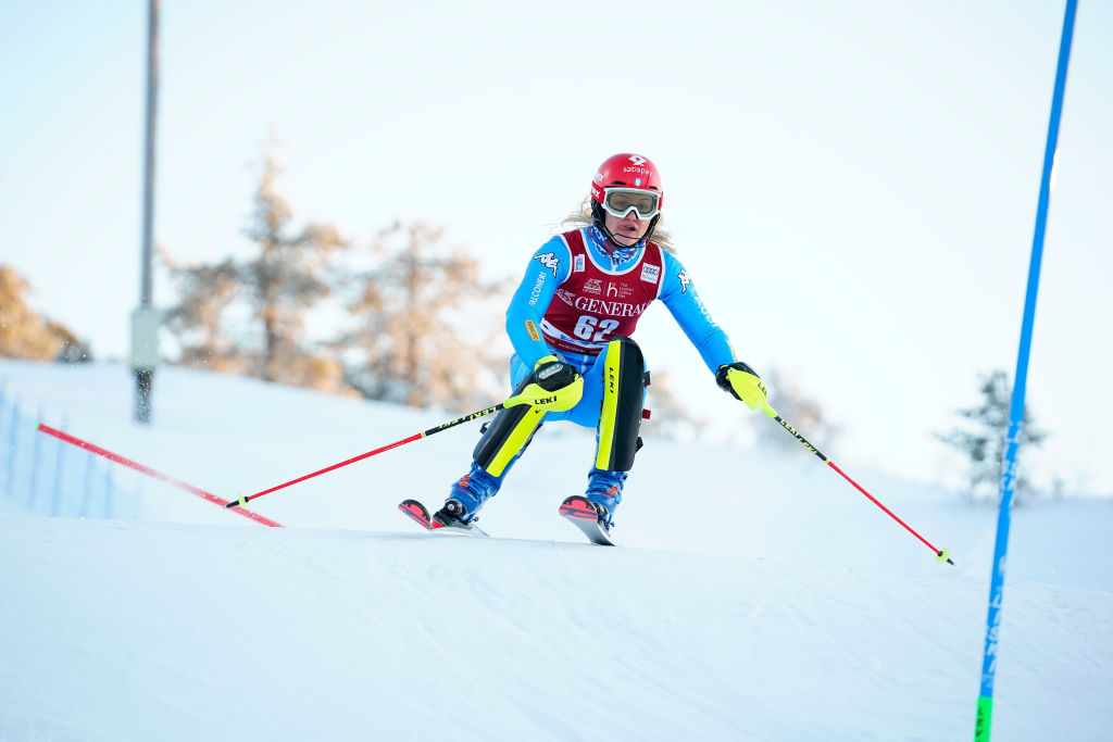
[[(99, 358), (126, 353), (138, 303), (146, 9), (0, 10), (0, 263)], [(1015, 368), (1062, 21), (1042, 0), (164, 0), (156, 240), (244, 254), (276, 132), (298, 222), (366, 243), (429, 219), (516, 278), (595, 167), (640, 152), (739, 358), (843, 429), (812, 443), (851, 476), (946, 481), (932, 433), (978, 373)], [(1111, 39), (1113, 6), (1082, 0), (1027, 385), (1052, 434), (1038, 473), (1104, 493)], [(785, 435), (715, 386), (663, 307), (638, 338), (725, 441)]]

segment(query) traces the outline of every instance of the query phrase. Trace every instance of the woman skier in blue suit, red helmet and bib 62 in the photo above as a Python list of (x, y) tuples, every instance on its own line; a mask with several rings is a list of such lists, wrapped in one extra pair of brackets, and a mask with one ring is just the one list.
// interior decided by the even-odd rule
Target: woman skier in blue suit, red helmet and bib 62
[(660, 172), (649, 159), (609, 157), (592, 179), (590, 200), (570, 220), (581, 226), (553, 237), (530, 258), (506, 310), (515, 350), (511, 400), (516, 404), (508, 404), (484, 428), (471, 469), (433, 515), (440, 526), (471, 528), (542, 419), (570, 421), (597, 429), (597, 455), (585, 497), (570, 497), (561, 512), (590, 517), (609, 541), (641, 447), (638, 429), (649, 384), (631, 336), (654, 299), (672, 313), (720, 387), (751, 409), (776, 415), (765, 385), (735, 359), (726, 333), (711, 320), (663, 233), (653, 241), (663, 200)]

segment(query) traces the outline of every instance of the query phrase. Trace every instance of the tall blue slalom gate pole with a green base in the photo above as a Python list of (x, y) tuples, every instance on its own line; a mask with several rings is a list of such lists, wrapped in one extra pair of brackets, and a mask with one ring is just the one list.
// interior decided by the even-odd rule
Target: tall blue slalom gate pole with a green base
[(997, 672), (997, 646), (1001, 630), (1001, 604), (1005, 586), (1005, 556), (1008, 551), (1008, 526), (1012, 516), (1013, 489), (1016, 484), (1016, 451), (1021, 445), (1021, 426), (1024, 422), (1024, 387), (1028, 376), (1028, 354), (1032, 349), (1032, 325), (1036, 314), (1036, 294), (1040, 289), (1040, 265), (1043, 260), (1044, 233), (1047, 227), (1047, 204), (1051, 199), (1051, 174), (1058, 146), (1058, 123), (1063, 113), (1063, 91), (1066, 88), (1066, 68), (1071, 59), (1071, 40), (1074, 36), (1074, 14), (1077, 0), (1066, 0), (1063, 34), (1058, 47), (1058, 67), (1055, 71), (1055, 92), (1051, 103), (1051, 123), (1047, 126), (1047, 146), (1044, 150), (1043, 176), (1040, 181), (1040, 204), (1036, 207), (1036, 228), (1032, 238), (1032, 259), (1028, 264), (1028, 287), (1024, 298), (1024, 319), (1021, 324), (1021, 347), (1016, 355), (1016, 376), (1013, 397), (1008, 407), (1008, 437), (1001, 466), (1001, 505), (997, 512), (997, 538), (993, 552), (993, 580), (989, 584), (989, 614), (986, 619), (985, 652), (982, 656), (982, 690), (977, 700), (974, 724), (975, 742), (988, 742), (993, 720), (993, 683)]

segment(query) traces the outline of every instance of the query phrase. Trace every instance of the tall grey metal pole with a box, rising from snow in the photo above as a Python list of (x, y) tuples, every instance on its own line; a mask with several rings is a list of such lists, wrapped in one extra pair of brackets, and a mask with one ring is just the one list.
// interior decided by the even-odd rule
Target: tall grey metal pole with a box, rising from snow
[(161, 318), (151, 307), (155, 222), (155, 120), (158, 112), (158, 0), (149, 0), (147, 26), (147, 141), (144, 157), (142, 254), (139, 263), (139, 306), (131, 313), (131, 372), (136, 379), (132, 419), (150, 424), (150, 390), (158, 366), (158, 328)]

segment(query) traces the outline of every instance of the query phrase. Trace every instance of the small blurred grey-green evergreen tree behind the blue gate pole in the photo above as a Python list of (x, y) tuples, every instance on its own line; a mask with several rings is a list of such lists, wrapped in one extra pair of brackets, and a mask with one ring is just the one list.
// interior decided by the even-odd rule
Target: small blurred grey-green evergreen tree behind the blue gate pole
[[(1012, 405), (1012, 387), (1004, 370), (994, 370), (978, 377), (978, 393), (982, 402), (975, 407), (959, 409), (958, 415), (967, 421), (936, 438), (957, 449), (969, 459), (967, 483), (971, 495), (997, 493), (999, 496), (1001, 466), (1005, 457), (1005, 438), (1008, 435), (1008, 409)], [(1027, 405), (1021, 422), (1021, 449), (1038, 447), (1047, 434), (1035, 427)], [(1017, 459), (1020, 464), (1020, 459)], [(1017, 466), (1015, 482), (1016, 502), (1032, 492), (1032, 483), (1026, 471)]]

